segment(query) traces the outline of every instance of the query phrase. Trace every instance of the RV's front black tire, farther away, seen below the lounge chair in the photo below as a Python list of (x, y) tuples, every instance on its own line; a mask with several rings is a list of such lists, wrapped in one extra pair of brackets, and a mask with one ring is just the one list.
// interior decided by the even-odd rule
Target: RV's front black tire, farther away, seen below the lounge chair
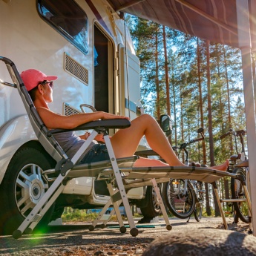
[[(160, 186), (160, 184), (158, 184), (158, 186)], [(152, 186), (147, 187), (145, 197), (148, 200), (148, 204), (140, 208), (142, 215), (151, 218), (157, 217), (161, 212), (161, 208), (160, 202), (157, 200), (157, 193)]]

